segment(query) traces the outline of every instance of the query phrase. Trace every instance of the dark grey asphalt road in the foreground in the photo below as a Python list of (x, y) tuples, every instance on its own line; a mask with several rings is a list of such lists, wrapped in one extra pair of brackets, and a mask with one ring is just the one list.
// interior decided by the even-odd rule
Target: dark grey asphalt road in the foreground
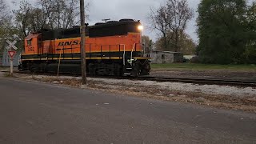
[(0, 143), (256, 143), (256, 114), (0, 78)]

